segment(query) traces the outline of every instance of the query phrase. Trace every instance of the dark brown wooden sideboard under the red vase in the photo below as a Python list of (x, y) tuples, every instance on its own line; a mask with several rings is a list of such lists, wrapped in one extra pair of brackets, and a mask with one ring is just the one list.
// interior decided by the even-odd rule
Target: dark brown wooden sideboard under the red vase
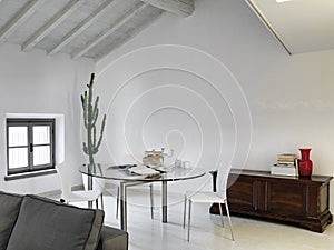
[[(294, 178), (266, 171), (232, 170), (227, 200), (232, 214), (272, 219), (323, 232), (333, 218), (330, 212), (330, 181), (333, 177)], [(214, 174), (215, 187), (215, 174)], [(218, 204), (210, 213), (219, 214)]]

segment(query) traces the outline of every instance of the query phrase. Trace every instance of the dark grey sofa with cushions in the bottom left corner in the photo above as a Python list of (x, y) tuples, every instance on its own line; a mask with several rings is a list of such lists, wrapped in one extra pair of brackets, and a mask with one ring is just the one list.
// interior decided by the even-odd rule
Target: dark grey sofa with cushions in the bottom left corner
[(128, 233), (105, 213), (0, 191), (0, 250), (127, 250)]

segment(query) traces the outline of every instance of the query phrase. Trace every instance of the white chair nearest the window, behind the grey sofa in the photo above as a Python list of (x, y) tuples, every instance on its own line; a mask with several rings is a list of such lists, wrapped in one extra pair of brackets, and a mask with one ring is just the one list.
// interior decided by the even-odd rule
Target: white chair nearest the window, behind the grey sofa
[(70, 168), (66, 164), (59, 164), (56, 166), (56, 170), (61, 187), (60, 201), (66, 203), (77, 202), (77, 201), (96, 201), (96, 207), (98, 208), (98, 199), (104, 191), (104, 186), (105, 186), (104, 180), (94, 181), (92, 190), (71, 191)]

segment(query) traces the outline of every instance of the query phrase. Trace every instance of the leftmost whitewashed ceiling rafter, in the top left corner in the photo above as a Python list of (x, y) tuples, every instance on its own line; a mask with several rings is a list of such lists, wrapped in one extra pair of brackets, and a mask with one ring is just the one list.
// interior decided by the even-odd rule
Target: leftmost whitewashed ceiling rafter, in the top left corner
[(46, 0), (32, 0), (29, 1), (12, 19), (10, 19), (6, 26), (0, 30), (0, 39), (4, 40), (12, 34), (17, 28), (29, 19), (36, 10), (38, 10)]

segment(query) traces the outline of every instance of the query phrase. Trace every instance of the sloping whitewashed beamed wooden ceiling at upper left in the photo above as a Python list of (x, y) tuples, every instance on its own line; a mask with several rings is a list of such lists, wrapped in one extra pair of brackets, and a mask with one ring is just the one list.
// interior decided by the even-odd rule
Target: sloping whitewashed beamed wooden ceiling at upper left
[(188, 17), (194, 0), (0, 0), (0, 41), (96, 61), (164, 11)]

